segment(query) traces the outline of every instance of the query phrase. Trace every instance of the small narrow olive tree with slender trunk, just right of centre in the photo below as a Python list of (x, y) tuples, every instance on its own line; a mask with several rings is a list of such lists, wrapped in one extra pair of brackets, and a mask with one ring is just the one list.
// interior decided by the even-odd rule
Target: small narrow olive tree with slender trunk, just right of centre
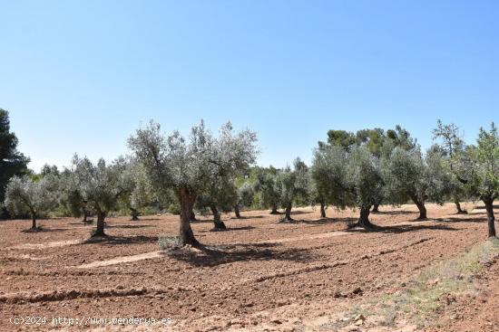
[(308, 166), (299, 158), (293, 162), (293, 168), (287, 166), (278, 173), (277, 184), (280, 188), (279, 202), (284, 208), (281, 223), (292, 222), (291, 209), (298, 198), (308, 198), (309, 174)]

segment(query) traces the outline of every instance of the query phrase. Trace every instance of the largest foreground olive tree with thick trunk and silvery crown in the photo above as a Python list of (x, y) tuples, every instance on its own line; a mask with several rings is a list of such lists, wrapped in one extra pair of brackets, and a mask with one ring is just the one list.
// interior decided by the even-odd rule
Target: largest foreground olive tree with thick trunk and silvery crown
[(159, 124), (151, 122), (129, 138), (129, 147), (146, 170), (157, 191), (174, 189), (181, 205), (179, 244), (198, 246), (191, 229), (191, 212), (199, 194), (210, 188), (220, 175), (234, 175), (253, 164), (256, 135), (244, 130), (234, 133), (230, 123), (214, 138), (201, 121), (191, 129), (189, 139), (178, 131), (161, 134)]

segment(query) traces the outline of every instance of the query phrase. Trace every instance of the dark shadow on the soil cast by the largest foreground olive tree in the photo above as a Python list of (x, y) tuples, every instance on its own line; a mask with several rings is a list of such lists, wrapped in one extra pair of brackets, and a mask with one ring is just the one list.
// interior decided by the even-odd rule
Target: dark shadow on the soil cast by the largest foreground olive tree
[(230, 244), (202, 246), (199, 250), (176, 249), (166, 254), (178, 261), (197, 267), (213, 267), (235, 261), (298, 261), (309, 262), (314, 258), (307, 251), (298, 249), (277, 250), (275, 243)]

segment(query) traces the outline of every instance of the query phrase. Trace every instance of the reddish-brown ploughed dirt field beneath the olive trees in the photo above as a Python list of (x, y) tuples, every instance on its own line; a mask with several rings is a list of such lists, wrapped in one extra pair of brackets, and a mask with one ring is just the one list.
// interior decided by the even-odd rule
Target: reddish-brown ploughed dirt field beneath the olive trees
[[(160, 251), (158, 236), (176, 233), (172, 215), (109, 218), (112, 237), (102, 242), (88, 242), (94, 226), (71, 218), (41, 221), (37, 233), (21, 232), (29, 221), (0, 223), (0, 330), (46, 330), (53, 318), (72, 318), (55, 328), (414, 331), (408, 317), (386, 325), (367, 311), (352, 313), (484, 242), (484, 210), (465, 207), (471, 213), (456, 215), (453, 204), (428, 204), (431, 219), (416, 222), (413, 205), (382, 206), (371, 214), (384, 226), (377, 232), (348, 230), (351, 211), (328, 209), (321, 220), (318, 210), (300, 208), (290, 224), (267, 211), (243, 212), (243, 219), (224, 215), (228, 232), (209, 232), (208, 218), (192, 224), (207, 250), (170, 253)], [(499, 331), (498, 272), (499, 263), (488, 264), (477, 276), (478, 295), (456, 294), (428, 329)], [(13, 317), (47, 320), (12, 325)], [(110, 324), (113, 318), (158, 324)]]

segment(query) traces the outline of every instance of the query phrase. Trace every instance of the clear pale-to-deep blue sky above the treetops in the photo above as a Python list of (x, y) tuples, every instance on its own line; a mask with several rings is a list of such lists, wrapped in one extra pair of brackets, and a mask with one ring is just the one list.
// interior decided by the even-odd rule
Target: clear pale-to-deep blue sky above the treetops
[(260, 165), (329, 128), (499, 122), (498, 1), (0, 0), (0, 108), (36, 170), (112, 159), (149, 119), (258, 132)]

